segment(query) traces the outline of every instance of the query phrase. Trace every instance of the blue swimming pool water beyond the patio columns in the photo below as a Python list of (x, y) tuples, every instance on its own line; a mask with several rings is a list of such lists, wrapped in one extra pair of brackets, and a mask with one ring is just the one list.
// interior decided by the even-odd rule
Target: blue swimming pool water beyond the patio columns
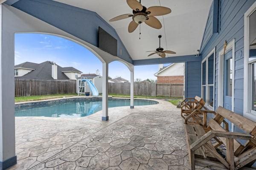
[[(151, 100), (134, 100), (135, 106), (155, 105), (158, 102)], [(108, 100), (108, 108), (129, 106), (128, 99)], [(52, 105), (23, 106), (15, 108), (15, 116), (44, 116), (44, 117), (84, 117), (102, 110), (102, 101), (61, 102)]]

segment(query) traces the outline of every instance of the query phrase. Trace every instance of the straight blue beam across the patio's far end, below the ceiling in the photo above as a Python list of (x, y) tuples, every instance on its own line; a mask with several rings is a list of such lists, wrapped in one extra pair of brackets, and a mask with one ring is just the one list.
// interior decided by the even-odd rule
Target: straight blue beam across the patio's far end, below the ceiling
[(167, 64), (167, 63), (191, 62), (191, 61), (201, 61), (201, 56), (195, 57), (195, 55), (187, 55), (187, 56), (176, 56), (176, 57), (154, 58), (154, 59), (138, 59), (138, 60), (133, 60), (133, 65), (153, 65), (153, 64)]

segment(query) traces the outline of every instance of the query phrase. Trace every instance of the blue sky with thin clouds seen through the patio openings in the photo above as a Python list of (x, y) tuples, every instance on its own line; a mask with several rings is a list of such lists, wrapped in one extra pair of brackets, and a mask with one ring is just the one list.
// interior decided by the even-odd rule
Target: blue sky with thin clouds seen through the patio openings
[[(61, 67), (74, 67), (83, 73), (102, 74), (102, 62), (87, 48), (70, 40), (47, 34), (15, 34), (15, 65), (22, 62), (54, 61)], [(156, 79), (158, 65), (135, 66), (134, 79)], [(130, 80), (130, 71), (121, 62), (109, 64), (109, 76)]]

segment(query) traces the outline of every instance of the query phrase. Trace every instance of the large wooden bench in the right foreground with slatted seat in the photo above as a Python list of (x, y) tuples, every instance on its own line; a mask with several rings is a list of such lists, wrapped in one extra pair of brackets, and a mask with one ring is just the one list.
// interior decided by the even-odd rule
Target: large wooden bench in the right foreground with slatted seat
[[(185, 124), (189, 161), (192, 170), (195, 165), (215, 170), (237, 170), (249, 168), (256, 160), (256, 122), (219, 107), (210, 119), (207, 128), (199, 124)], [(229, 132), (221, 125), (224, 119), (232, 122), (244, 133)], [(225, 126), (228, 127), (227, 122)], [(215, 144), (212, 144), (215, 139)], [(241, 144), (238, 139), (245, 140)], [(222, 157), (216, 150), (221, 144), (227, 148)]]

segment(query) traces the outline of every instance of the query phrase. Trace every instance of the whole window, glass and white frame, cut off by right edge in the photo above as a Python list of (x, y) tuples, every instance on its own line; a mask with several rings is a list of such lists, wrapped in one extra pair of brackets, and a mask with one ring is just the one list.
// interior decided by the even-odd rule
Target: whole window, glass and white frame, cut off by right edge
[(256, 2), (244, 14), (244, 116), (256, 121)]

